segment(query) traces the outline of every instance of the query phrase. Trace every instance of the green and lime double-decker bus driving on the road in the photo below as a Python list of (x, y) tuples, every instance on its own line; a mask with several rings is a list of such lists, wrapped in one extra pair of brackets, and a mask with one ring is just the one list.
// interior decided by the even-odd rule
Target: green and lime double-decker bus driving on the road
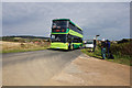
[(69, 19), (54, 19), (51, 48), (74, 50), (82, 46), (82, 29)]

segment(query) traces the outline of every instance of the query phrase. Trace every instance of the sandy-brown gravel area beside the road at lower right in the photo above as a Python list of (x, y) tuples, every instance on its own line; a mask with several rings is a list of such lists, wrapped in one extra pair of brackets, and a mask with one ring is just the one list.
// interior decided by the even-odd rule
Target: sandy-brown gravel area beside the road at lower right
[(46, 86), (130, 86), (130, 66), (81, 54)]

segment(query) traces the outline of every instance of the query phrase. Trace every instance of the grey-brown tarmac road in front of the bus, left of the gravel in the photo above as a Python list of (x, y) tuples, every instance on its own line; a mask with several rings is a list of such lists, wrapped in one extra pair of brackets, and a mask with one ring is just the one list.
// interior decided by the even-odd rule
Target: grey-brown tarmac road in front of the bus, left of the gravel
[(61, 73), (81, 52), (36, 51), (2, 55), (3, 86), (43, 86)]

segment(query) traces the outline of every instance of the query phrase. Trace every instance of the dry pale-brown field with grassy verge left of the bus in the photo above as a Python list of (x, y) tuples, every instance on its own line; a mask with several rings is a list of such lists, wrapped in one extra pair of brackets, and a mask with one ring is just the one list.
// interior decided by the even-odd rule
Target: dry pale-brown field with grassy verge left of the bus
[(50, 46), (50, 42), (19, 43), (19, 42), (0, 41), (0, 46), (2, 46), (0, 53), (16, 53), (16, 52), (45, 50), (45, 48), (47, 48)]

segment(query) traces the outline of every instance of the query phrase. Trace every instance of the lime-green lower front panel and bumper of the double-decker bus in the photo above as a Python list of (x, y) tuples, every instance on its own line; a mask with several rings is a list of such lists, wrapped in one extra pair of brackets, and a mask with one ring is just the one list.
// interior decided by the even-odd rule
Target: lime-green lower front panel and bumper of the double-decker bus
[(68, 43), (51, 43), (51, 48), (68, 50)]

